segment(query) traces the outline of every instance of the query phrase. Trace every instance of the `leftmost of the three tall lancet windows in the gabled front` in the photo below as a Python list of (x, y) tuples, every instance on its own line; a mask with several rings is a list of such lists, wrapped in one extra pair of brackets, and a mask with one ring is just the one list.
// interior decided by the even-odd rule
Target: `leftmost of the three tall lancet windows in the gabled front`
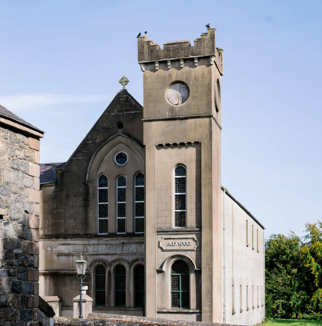
[(98, 178), (98, 234), (108, 234), (108, 180), (104, 174)]

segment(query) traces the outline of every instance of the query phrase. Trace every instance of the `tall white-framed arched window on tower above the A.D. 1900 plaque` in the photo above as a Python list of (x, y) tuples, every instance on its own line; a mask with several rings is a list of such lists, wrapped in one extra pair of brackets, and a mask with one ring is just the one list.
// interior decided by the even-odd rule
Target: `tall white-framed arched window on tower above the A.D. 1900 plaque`
[(186, 228), (187, 221), (187, 193), (186, 193), (186, 169), (177, 166), (174, 170), (174, 227)]

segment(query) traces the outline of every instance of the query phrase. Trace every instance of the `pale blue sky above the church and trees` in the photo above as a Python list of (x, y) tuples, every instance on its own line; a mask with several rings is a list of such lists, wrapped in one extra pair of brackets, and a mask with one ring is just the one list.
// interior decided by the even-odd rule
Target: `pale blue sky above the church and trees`
[(272, 233), (322, 218), (322, 1), (0, 0), (0, 104), (66, 162), (120, 89), (143, 104), (137, 34), (210, 23), (224, 49), (222, 184)]

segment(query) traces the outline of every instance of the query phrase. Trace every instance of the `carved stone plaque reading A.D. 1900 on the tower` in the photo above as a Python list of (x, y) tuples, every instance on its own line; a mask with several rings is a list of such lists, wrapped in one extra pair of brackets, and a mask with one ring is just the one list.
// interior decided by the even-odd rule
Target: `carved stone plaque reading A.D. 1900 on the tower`
[(162, 251), (194, 251), (199, 246), (195, 236), (187, 237), (162, 237), (159, 241), (159, 248)]

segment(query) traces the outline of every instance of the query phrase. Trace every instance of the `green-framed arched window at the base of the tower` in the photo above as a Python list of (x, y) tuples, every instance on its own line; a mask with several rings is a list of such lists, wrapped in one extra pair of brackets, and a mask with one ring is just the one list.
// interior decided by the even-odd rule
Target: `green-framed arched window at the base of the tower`
[(171, 266), (171, 308), (189, 309), (189, 267), (183, 261)]

